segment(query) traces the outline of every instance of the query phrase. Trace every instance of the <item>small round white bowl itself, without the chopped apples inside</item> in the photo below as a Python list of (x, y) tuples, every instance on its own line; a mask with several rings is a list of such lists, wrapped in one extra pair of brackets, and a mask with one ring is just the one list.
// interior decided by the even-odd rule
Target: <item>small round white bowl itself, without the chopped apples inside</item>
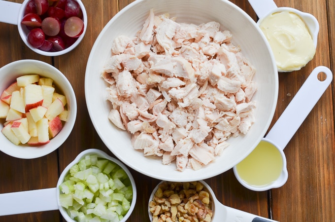
[[(46, 145), (32, 147), (29, 145), (16, 146), (0, 133), (0, 150), (8, 155), (33, 159), (44, 156), (59, 148), (72, 131), (77, 114), (77, 102), (75, 94), (67, 77), (55, 67), (38, 60), (19, 60), (0, 68), (0, 92), (2, 93), (17, 77), (25, 74), (39, 74), (52, 78), (57, 89), (67, 98), (68, 121), (64, 123), (62, 130)], [(0, 131), (3, 128), (1, 120)]]

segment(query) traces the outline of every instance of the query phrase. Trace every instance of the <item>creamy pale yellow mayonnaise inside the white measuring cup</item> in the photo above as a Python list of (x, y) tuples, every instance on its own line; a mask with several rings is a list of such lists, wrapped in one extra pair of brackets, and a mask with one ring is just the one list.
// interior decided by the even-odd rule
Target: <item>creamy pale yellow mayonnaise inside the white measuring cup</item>
[(300, 70), (314, 57), (313, 39), (296, 13), (270, 14), (261, 21), (260, 28), (271, 46), (278, 71)]

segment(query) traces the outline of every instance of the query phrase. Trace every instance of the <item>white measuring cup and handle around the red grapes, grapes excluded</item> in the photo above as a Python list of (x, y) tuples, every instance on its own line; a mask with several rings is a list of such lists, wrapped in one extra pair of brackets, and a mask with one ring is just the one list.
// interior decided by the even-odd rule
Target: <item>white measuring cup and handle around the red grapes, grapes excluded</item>
[[(45, 55), (45, 56), (59, 56), (63, 55), (75, 47), (81, 42), (81, 40), (85, 36), (86, 28), (87, 28), (87, 13), (85, 6), (81, 0), (76, 0), (81, 8), (81, 11), (83, 13), (83, 22), (84, 22), (84, 31), (83, 33), (78, 37), (78, 39), (69, 47), (61, 50), (61, 51), (56, 51), (56, 52), (46, 52), (43, 50), (40, 50), (38, 48), (33, 47), (29, 42), (28, 42), (28, 33), (29, 30), (27, 27), (21, 24), (21, 20), (24, 16), (25, 9), (27, 7), (27, 4), (29, 3), (30, 0), (24, 0), (22, 4), (16, 3), (16, 2), (11, 2), (11, 1), (6, 1), (6, 0), (0, 0), (0, 22), (3, 23), (8, 23), (12, 25), (17, 25), (18, 31), (20, 34), (20, 37), (22, 38), (23, 42), (34, 52)], [(1, 33), (0, 33), (1, 35)]]

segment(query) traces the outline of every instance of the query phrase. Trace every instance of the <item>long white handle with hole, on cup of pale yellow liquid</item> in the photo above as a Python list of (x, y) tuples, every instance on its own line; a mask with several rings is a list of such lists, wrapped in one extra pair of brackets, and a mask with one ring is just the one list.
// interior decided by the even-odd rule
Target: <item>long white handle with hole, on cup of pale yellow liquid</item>
[[(318, 79), (319, 73), (326, 74), (324, 81)], [(284, 149), (308, 113), (326, 91), (332, 79), (333, 74), (330, 69), (324, 66), (316, 67), (265, 138), (271, 141), (277, 148)]]

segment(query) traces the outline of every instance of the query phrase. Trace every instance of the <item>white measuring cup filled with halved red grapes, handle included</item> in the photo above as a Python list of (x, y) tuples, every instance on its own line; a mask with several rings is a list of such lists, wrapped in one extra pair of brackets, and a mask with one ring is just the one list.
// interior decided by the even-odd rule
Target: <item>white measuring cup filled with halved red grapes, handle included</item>
[(81, 0), (0, 1), (0, 21), (18, 26), (25, 44), (46, 56), (63, 55), (83, 39), (87, 13)]

